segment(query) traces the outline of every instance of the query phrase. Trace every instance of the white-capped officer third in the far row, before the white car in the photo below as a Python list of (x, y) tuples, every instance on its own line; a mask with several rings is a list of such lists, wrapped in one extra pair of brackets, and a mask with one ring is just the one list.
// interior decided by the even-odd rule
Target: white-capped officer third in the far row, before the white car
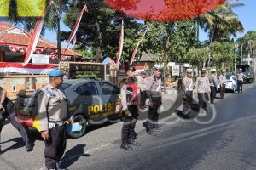
[(210, 88), (211, 88), (210, 101), (212, 105), (216, 105), (214, 103), (216, 94), (218, 92), (218, 80), (216, 76), (216, 69), (211, 70), (211, 74), (209, 75), (209, 81), (210, 81)]

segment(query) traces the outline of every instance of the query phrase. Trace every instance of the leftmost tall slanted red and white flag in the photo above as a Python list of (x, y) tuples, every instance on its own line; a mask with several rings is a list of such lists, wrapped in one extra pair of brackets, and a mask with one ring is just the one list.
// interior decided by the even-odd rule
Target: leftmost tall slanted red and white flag
[(27, 53), (24, 59), (24, 63), (23, 65), (27, 65), (30, 61), (30, 59), (32, 58), (32, 54), (34, 53), (35, 48), (37, 47), (38, 44), (38, 40), (44, 25), (44, 18), (45, 18), (45, 14), (47, 13), (49, 6), (51, 5), (51, 3), (54, 3), (54, 0), (49, 0), (48, 3), (46, 4), (44, 10), (42, 11), (41, 16), (43, 17), (39, 17), (37, 24), (34, 28), (34, 31), (32, 33), (32, 37), (30, 39), (30, 42), (28, 44), (28, 48), (27, 48)]

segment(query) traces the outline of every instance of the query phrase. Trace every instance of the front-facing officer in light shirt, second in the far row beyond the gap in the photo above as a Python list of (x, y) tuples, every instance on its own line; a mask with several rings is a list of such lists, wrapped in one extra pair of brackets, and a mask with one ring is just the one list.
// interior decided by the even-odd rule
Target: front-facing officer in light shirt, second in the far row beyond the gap
[(209, 78), (206, 76), (206, 70), (201, 70), (201, 76), (196, 78), (195, 92), (198, 96), (200, 109), (207, 110), (207, 103), (209, 101), (209, 94), (211, 94)]

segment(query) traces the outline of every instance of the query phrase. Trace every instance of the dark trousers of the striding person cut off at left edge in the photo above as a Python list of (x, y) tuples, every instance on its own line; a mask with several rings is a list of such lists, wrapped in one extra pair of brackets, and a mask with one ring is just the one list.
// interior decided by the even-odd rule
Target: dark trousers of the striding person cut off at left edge
[(0, 119), (0, 142), (1, 142), (1, 132), (2, 132), (3, 124), (5, 122), (5, 119), (8, 117), (9, 122), (13, 125), (13, 127), (15, 127), (19, 131), (23, 141), (25, 143), (28, 143), (29, 139), (27, 137), (26, 129), (22, 125), (20, 125), (20, 122), (15, 113), (15, 108), (13, 106), (11, 108), (5, 108), (5, 111), (6, 111), (6, 114), (4, 114), (3, 117)]

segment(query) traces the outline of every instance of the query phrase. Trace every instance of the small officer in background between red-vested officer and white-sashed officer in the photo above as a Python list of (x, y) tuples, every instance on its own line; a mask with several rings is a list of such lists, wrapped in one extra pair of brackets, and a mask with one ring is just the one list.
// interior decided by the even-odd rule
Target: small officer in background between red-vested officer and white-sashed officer
[(147, 96), (147, 75), (146, 75), (146, 71), (142, 71), (141, 72), (141, 79), (140, 79), (140, 93), (141, 93), (141, 102), (140, 102), (140, 108), (146, 109), (147, 105), (146, 105), (146, 100), (148, 98)]

